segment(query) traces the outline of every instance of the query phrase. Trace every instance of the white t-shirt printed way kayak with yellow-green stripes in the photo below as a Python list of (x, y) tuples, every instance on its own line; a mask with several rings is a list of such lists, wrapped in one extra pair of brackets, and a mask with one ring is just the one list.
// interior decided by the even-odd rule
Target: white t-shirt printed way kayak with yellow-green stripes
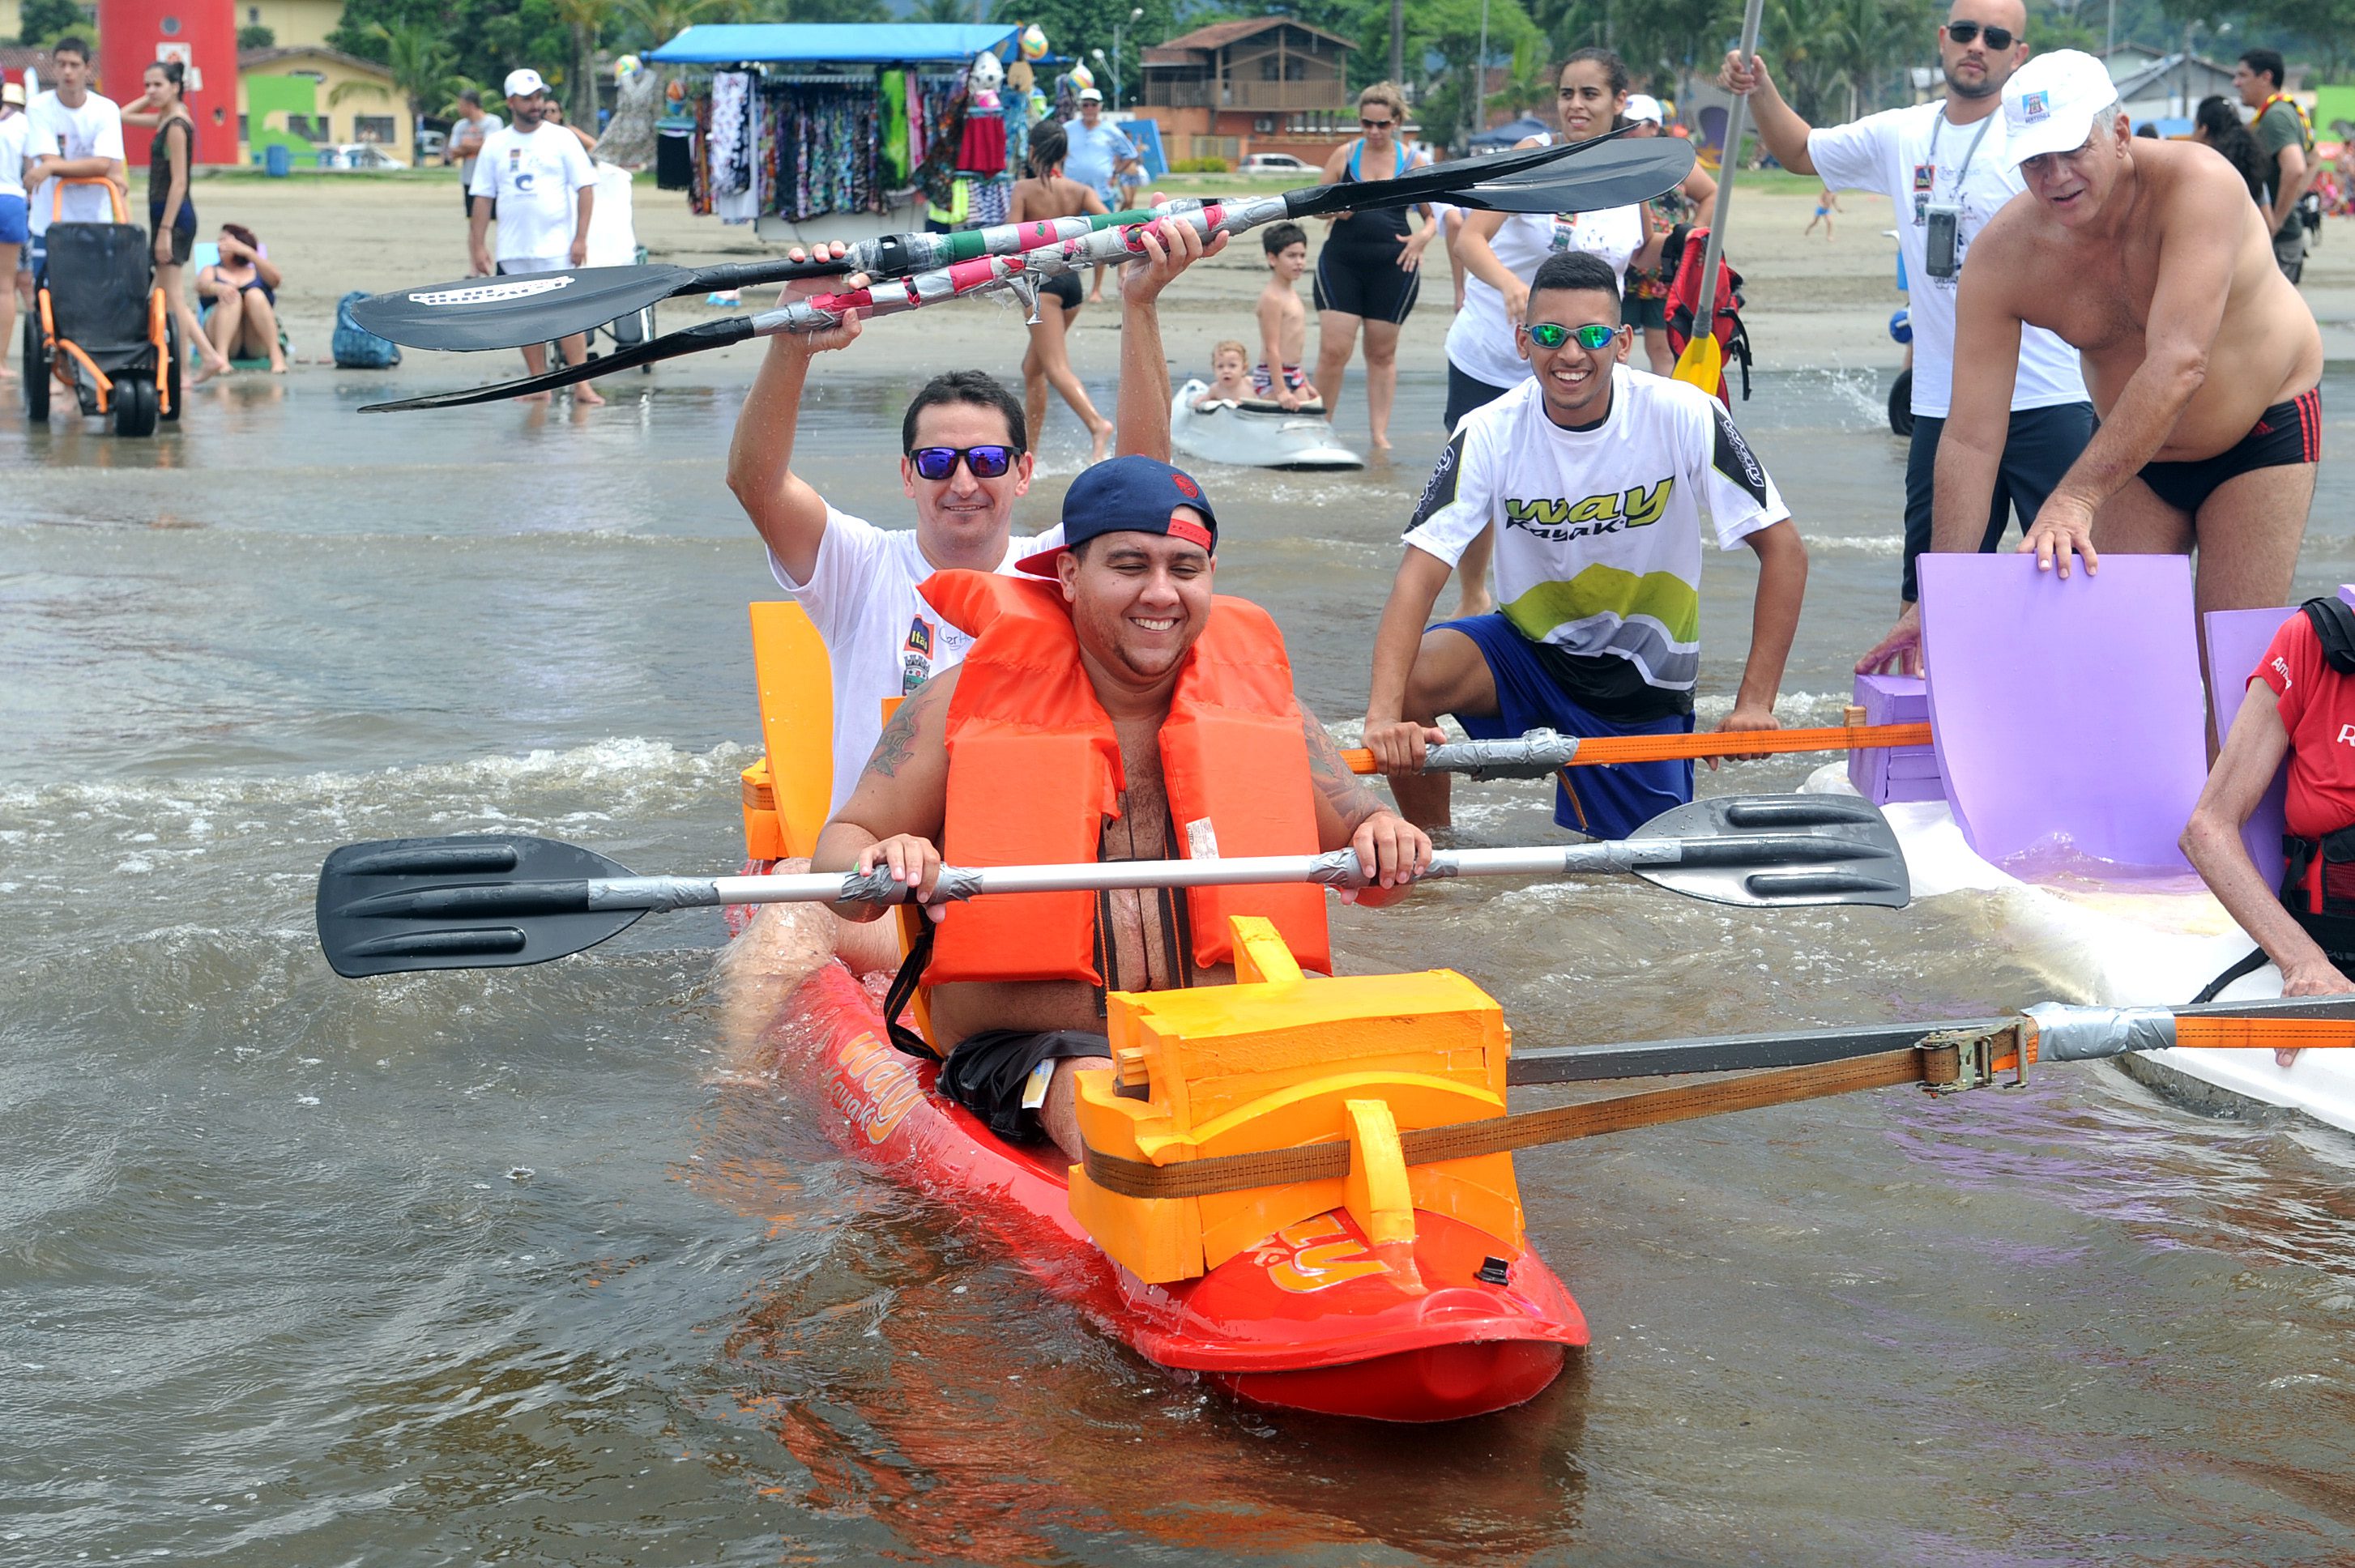
[(1547, 419), (1533, 379), (1467, 414), (1406, 542), (1455, 565), (1495, 523), (1495, 598), (1521, 636), (1689, 695), (1703, 506), (1722, 551), (1790, 516), (1724, 403), (1620, 365), (1592, 431)]

